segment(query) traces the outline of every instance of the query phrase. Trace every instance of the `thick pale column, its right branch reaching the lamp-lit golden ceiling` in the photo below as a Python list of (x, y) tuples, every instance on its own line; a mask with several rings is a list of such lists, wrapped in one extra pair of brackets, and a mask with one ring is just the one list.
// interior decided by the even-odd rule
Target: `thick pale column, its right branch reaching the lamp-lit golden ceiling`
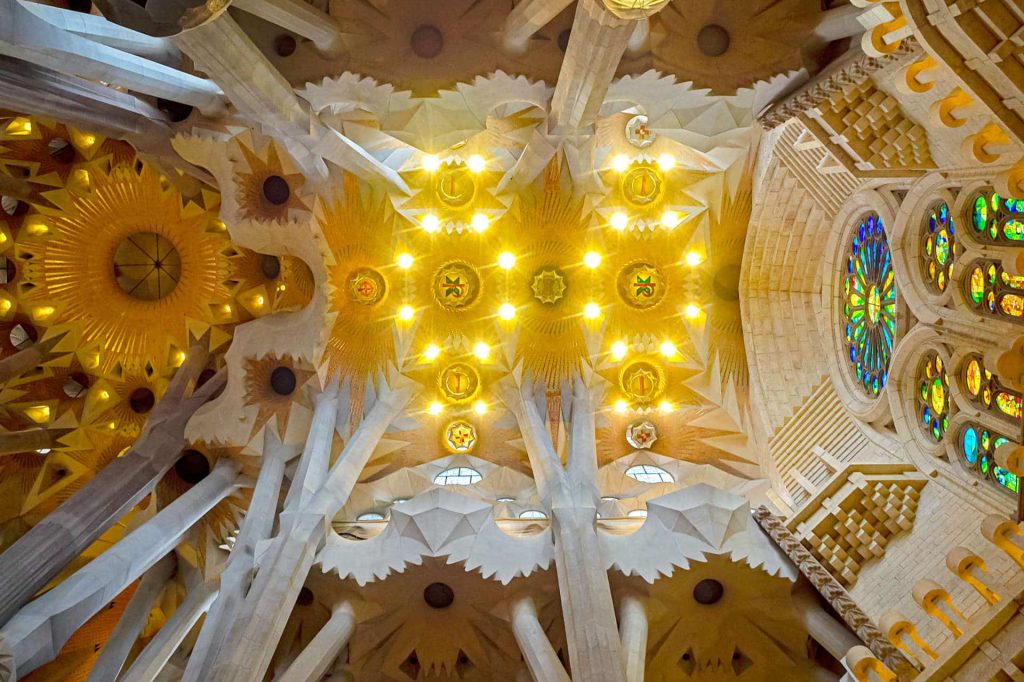
[(294, 513), (291, 529), (279, 534), (266, 550), (238, 621), (214, 662), (213, 678), (218, 682), (260, 679), (269, 669), (331, 519), (344, 506), (384, 432), (413, 396), (411, 380), (399, 376), (394, 381), (345, 443), (324, 485)]

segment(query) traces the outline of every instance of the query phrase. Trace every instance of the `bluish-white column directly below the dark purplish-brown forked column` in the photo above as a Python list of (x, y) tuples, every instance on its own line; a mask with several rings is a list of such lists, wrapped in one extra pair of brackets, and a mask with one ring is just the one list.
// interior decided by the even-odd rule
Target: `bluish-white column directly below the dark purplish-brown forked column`
[(220, 460), (195, 487), (26, 604), (0, 629), (0, 648), (11, 651), (16, 675), (25, 676), (56, 657), (76, 630), (174, 549), (188, 528), (238, 487), (238, 473), (237, 462)]

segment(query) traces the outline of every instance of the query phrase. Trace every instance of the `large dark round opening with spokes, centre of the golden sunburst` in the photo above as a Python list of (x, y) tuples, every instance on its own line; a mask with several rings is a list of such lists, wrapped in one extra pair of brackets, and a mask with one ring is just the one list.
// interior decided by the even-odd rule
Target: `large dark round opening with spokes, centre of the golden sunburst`
[(181, 256), (156, 232), (136, 232), (114, 252), (114, 276), (122, 291), (140, 301), (169, 295), (181, 279)]

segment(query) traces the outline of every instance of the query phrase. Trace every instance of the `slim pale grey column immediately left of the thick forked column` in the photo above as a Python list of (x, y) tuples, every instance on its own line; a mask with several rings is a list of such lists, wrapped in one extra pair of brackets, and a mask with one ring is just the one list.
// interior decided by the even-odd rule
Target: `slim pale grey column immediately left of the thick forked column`
[(263, 439), (263, 461), (252, 501), (220, 573), (220, 592), (203, 621), (203, 628), (185, 667), (182, 682), (201, 682), (210, 677), (213, 657), (224, 644), (227, 630), (238, 616), (256, 572), (256, 545), (270, 537), (278, 514), (278, 499), (285, 477), (289, 449), (270, 428)]

